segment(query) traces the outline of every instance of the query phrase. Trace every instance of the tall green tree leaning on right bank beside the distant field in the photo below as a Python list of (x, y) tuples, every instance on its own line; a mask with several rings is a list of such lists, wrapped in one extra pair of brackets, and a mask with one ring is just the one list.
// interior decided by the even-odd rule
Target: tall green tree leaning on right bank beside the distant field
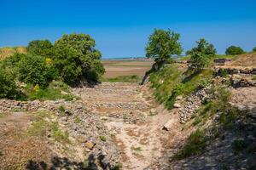
[(146, 47), (147, 58), (154, 59), (159, 70), (172, 55), (179, 55), (182, 53), (181, 43), (179, 41), (180, 35), (171, 30), (155, 29), (153, 34), (148, 37), (148, 44)]

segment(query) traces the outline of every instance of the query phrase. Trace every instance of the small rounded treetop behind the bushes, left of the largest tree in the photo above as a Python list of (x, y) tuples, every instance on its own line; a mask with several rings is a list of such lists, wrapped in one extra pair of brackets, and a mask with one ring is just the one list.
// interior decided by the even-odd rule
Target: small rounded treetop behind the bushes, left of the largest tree
[(51, 57), (53, 45), (49, 40), (34, 40), (28, 43), (27, 52), (30, 54)]

